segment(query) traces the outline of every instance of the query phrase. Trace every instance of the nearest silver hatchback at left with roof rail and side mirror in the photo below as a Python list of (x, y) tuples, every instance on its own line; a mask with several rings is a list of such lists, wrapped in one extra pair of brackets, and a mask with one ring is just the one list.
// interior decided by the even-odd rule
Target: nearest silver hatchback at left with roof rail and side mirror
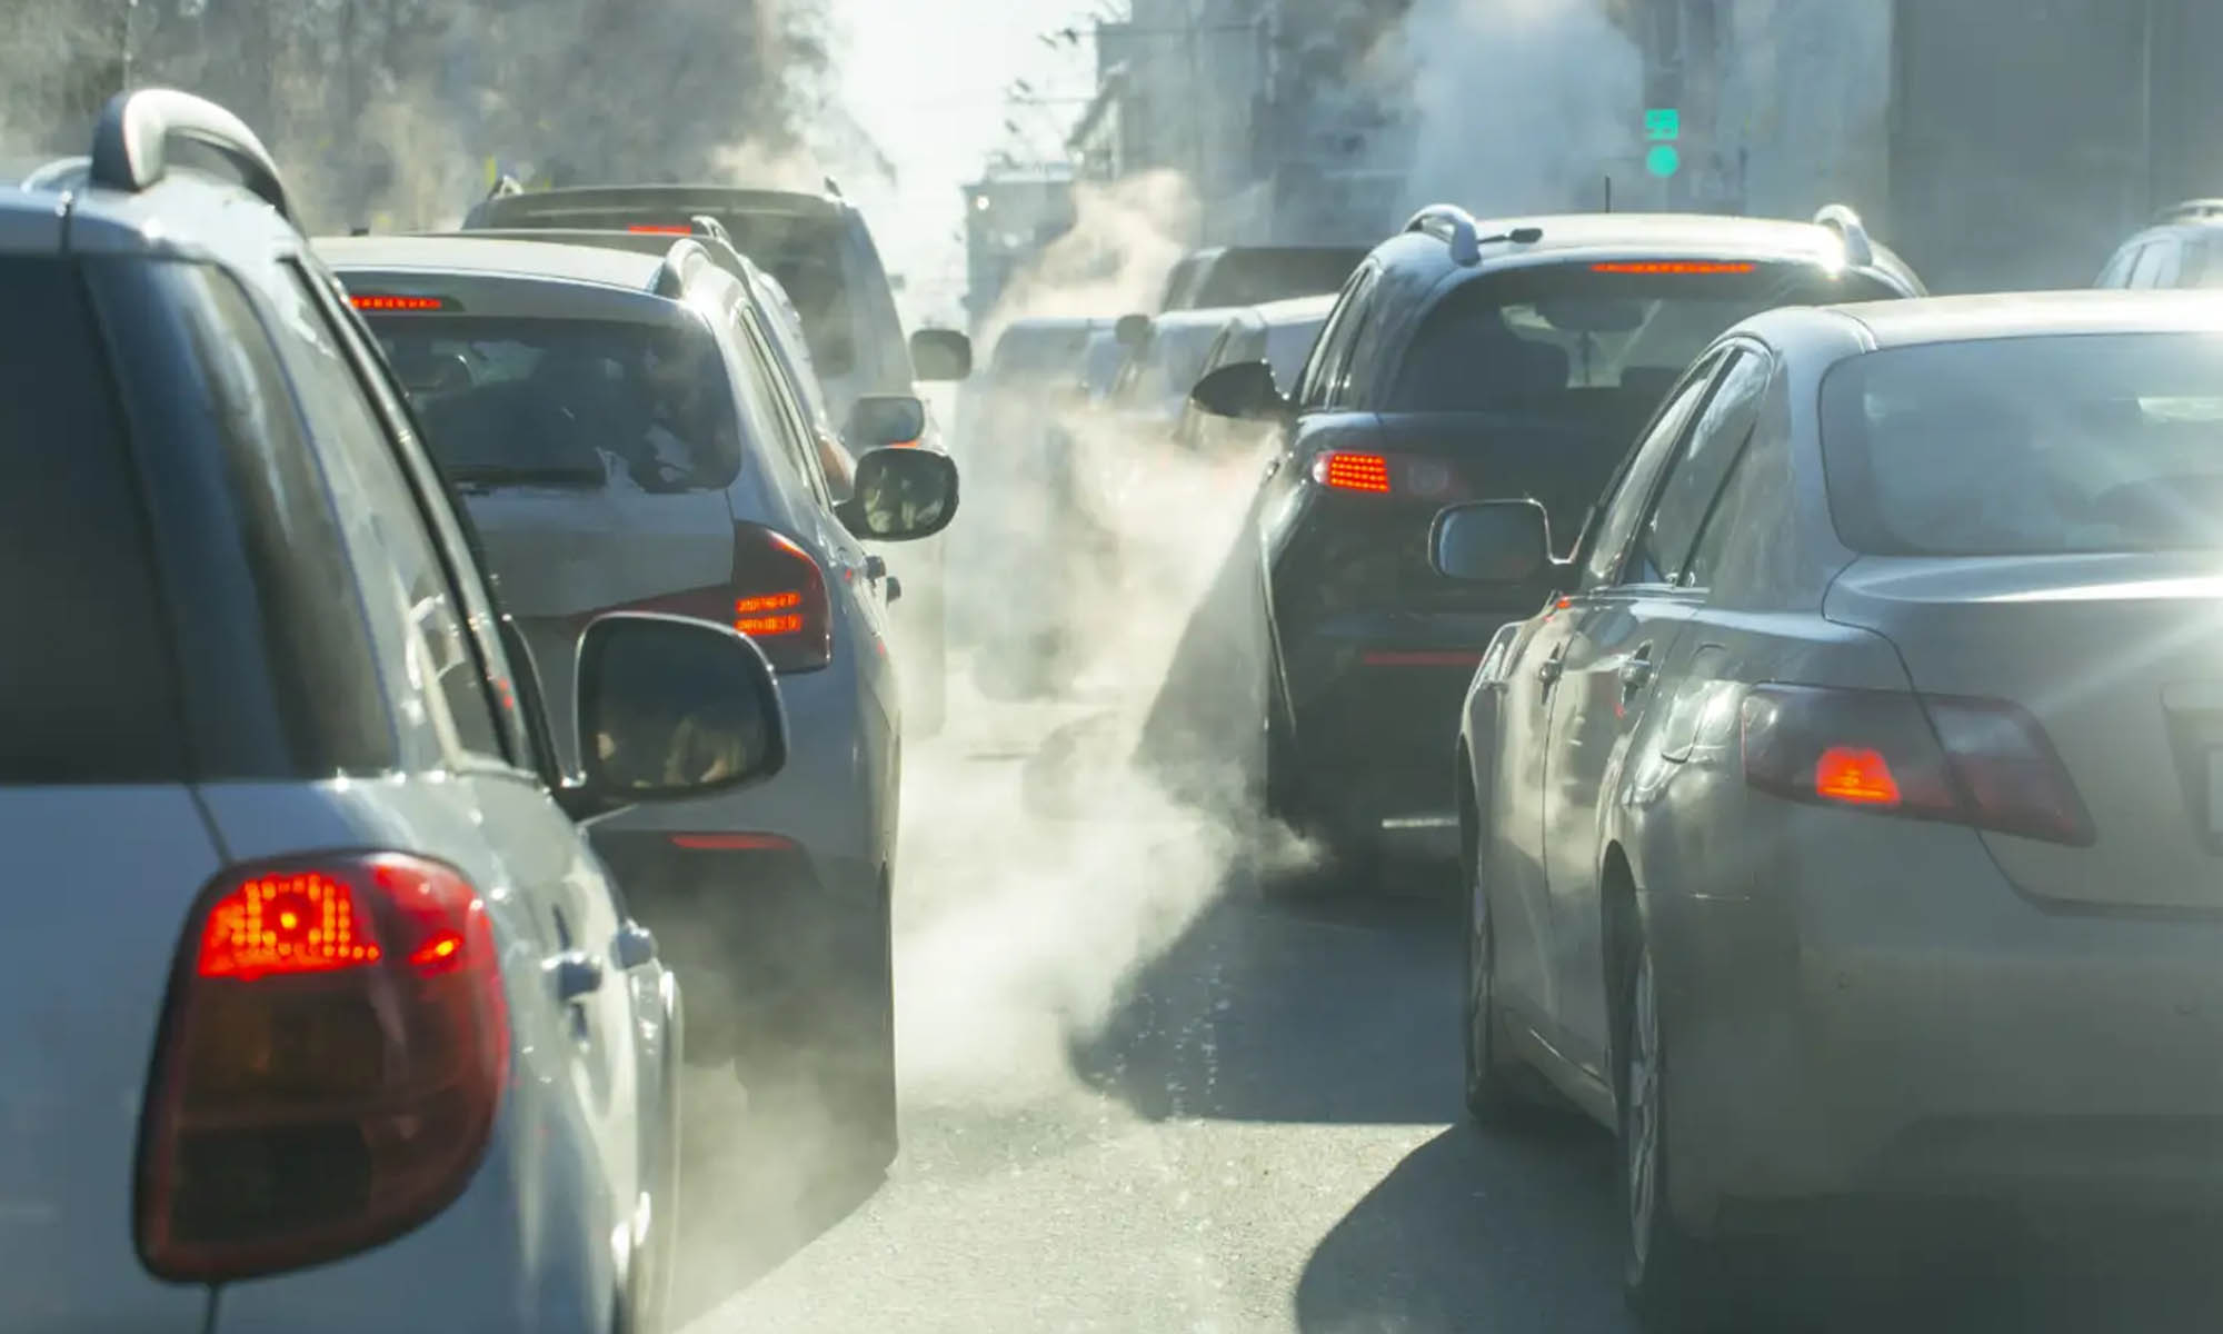
[(660, 1327), (680, 996), (580, 820), (776, 771), (765, 656), (596, 620), (565, 776), (209, 102), (118, 98), (0, 189), (0, 1325)]

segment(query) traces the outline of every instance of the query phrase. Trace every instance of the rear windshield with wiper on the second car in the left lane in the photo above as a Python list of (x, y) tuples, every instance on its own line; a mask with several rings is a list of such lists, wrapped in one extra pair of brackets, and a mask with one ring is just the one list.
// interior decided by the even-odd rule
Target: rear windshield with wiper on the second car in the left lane
[(714, 491), (740, 422), (700, 325), (371, 316), (449, 478)]

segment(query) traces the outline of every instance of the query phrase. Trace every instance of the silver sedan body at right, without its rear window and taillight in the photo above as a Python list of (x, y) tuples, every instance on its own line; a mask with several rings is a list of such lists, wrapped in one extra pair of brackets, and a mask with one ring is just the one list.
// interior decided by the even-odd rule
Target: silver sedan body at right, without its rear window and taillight
[[(1456, 771), (1503, 1041), (1612, 1125), (1647, 940), (1667, 1198), (1698, 1234), (1841, 1196), (2223, 1189), (2219, 769), (2170, 758), (2223, 705), (2216, 554), (1858, 554), (1818, 445), (1821, 380), (1854, 358), (2121, 331), (2214, 336), (2223, 311), (2081, 293), (1756, 316), (1667, 398), (1569, 591), (1489, 645)], [(1729, 449), (1692, 462), (1712, 440)], [(1727, 480), (1701, 478), (1707, 518), (1663, 576), (1647, 534), (1689, 469)], [(1763, 683), (2007, 700), (2096, 843), (1756, 792), (1738, 709)]]

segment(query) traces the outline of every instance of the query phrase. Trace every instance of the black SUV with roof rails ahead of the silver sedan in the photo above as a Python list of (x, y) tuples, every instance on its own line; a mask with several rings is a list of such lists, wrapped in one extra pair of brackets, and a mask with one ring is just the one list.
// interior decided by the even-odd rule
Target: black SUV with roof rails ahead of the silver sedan
[(1723, 329), (1781, 305), (1921, 293), (1843, 207), (1814, 222), (1478, 222), (1438, 205), (1352, 273), (1294, 394), (1265, 362), (1209, 374), (1200, 409), (1280, 436), (1236, 556), (1258, 565), (1269, 809), (1343, 854), (1369, 854), (1385, 832), (1447, 843), (1467, 678), (1545, 589), (1436, 576), (1436, 511), (1534, 498), (1565, 551), (1661, 396)]

